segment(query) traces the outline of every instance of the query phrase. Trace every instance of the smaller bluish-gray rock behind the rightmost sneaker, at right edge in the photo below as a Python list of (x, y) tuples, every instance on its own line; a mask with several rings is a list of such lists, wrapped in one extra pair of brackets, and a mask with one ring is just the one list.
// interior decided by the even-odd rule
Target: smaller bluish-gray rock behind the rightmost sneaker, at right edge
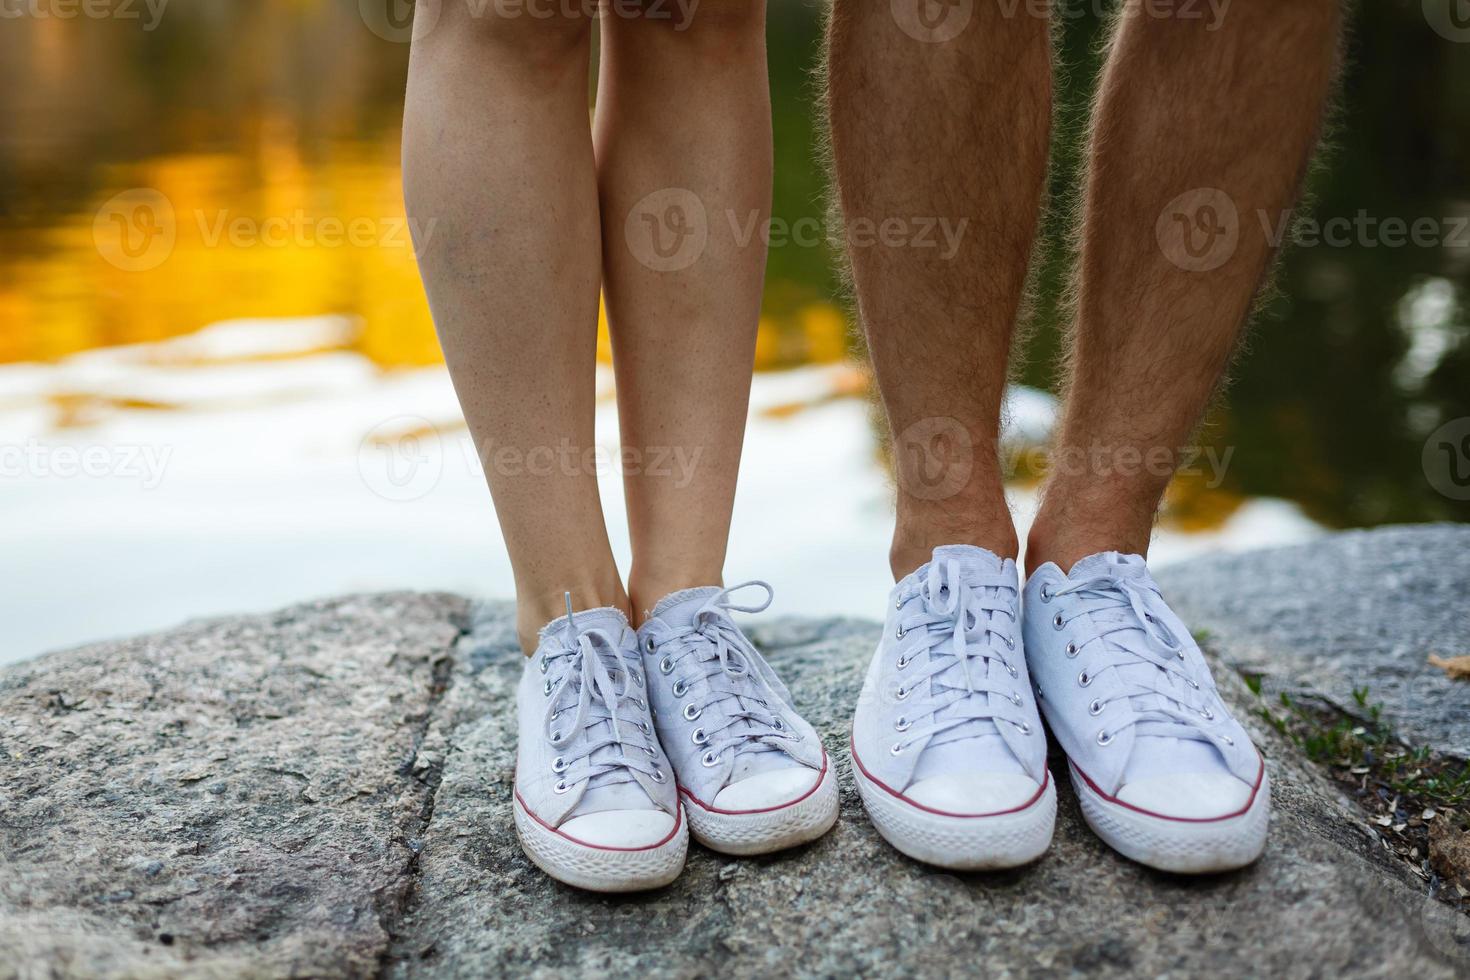
[(1401, 736), (1470, 758), (1470, 683), (1427, 663), (1470, 655), (1470, 526), (1344, 532), (1200, 558), (1158, 580), (1267, 693), (1307, 691), (1363, 714), (1352, 692), (1367, 688)]

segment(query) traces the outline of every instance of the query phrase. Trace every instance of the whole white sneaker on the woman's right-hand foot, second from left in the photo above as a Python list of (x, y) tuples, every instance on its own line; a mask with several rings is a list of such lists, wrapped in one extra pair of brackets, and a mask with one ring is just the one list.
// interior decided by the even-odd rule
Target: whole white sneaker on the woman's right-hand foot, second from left
[[(760, 605), (731, 594), (766, 589)], [(723, 854), (816, 840), (836, 821), (836, 774), (791, 692), (731, 620), (760, 613), (770, 586), (685, 589), (638, 627), (654, 726), (679, 779), (689, 832)]]

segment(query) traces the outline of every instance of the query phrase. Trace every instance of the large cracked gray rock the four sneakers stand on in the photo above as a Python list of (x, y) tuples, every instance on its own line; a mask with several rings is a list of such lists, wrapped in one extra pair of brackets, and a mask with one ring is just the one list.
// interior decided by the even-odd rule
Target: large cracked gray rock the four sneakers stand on
[[(1245, 657), (1220, 623), (1223, 655)], [(956, 876), (897, 855), (844, 751), (875, 630), (753, 629), (838, 760), (836, 829), (770, 858), (692, 846), (673, 886), (622, 899), (556, 884), (516, 845), (507, 605), (356, 597), (12, 667), (0, 977), (1470, 971), (1466, 921), (1225, 669), (1276, 789), (1255, 867), (1185, 880), (1130, 864), (1066, 780), (1030, 868)]]

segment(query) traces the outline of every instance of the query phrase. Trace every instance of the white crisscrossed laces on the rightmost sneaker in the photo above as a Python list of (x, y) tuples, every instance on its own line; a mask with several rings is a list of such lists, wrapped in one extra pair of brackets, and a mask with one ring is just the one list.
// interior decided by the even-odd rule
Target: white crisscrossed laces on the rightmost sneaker
[[(1200, 727), (1201, 718), (1213, 721), (1216, 713), (1204, 704), (1204, 693), (1189, 669), (1185, 645), (1169, 629), (1164, 598), (1150, 579), (1138, 574), (1102, 573), (1057, 589), (1051, 595), (1078, 595), (1089, 599), (1089, 602), (1076, 607), (1072, 617), (1063, 621), (1094, 614), (1094, 623), (1100, 629), (1082, 645), (1097, 644), (1104, 651), (1105, 661), (1094, 671), (1092, 677), (1104, 670), (1111, 670), (1122, 682), (1119, 693), (1092, 702), (1094, 714), (1101, 714), (1101, 710), (1111, 701), (1125, 698), (1135, 708), (1132, 718), (1101, 732), (1098, 742), (1107, 745), (1120, 732), (1136, 726), (1136, 735), (1200, 742), (1213, 742), (1220, 738), (1233, 745), (1229, 736), (1216, 736)], [(1098, 613), (1102, 616), (1098, 617)], [(1122, 670), (1130, 666), (1152, 666), (1155, 670), (1147, 671), (1147, 674)], [(1145, 682), (1145, 676), (1151, 682)], [(1172, 683), (1172, 677), (1177, 677), (1180, 683)]]

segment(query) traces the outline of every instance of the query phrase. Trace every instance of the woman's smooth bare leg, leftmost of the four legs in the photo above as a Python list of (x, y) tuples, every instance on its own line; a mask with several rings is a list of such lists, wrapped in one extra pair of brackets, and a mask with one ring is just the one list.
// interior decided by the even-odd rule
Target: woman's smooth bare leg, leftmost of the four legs
[(470, 10), (444, 3), (413, 44), (404, 192), (417, 226), (432, 220), (419, 242), (423, 284), (531, 651), (564, 591), (579, 608), (626, 608), (597, 473), (582, 466), (594, 444), (601, 248), (591, 19)]

